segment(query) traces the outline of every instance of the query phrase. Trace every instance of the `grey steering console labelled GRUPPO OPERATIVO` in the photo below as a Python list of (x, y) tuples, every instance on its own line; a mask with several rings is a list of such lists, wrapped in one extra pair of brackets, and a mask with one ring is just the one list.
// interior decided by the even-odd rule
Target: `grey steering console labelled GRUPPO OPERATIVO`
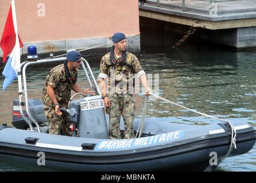
[(76, 122), (77, 137), (108, 138), (102, 97), (92, 96), (72, 101), (70, 109), (72, 108), (76, 113), (70, 116), (70, 120)]

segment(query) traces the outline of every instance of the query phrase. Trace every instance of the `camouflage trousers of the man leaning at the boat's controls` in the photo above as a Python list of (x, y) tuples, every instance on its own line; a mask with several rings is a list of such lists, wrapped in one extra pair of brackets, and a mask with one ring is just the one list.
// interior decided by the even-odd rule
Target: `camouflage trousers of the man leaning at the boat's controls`
[(69, 114), (62, 112), (61, 117), (55, 113), (54, 108), (44, 108), (45, 116), (48, 119), (49, 133), (63, 136), (71, 136), (71, 121), (69, 121)]

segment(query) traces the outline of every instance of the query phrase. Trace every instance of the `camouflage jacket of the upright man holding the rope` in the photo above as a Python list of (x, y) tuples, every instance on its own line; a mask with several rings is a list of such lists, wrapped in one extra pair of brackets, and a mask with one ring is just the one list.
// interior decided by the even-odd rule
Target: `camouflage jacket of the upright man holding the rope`
[(125, 63), (130, 65), (133, 70), (131, 70), (131, 68), (127, 65), (121, 65), (121, 57), (117, 58), (116, 55), (114, 55), (114, 59), (118, 62), (111, 66), (110, 53), (108, 53), (102, 57), (100, 62), (99, 78), (108, 78), (108, 85), (110, 85), (111, 81), (113, 80), (115, 85), (125, 80), (127, 86), (129, 86), (129, 82), (133, 82), (133, 74), (137, 74), (138, 78), (145, 74), (145, 72), (142, 70), (141, 64), (138, 61), (138, 58), (134, 54), (127, 51), (126, 54), (127, 56)]

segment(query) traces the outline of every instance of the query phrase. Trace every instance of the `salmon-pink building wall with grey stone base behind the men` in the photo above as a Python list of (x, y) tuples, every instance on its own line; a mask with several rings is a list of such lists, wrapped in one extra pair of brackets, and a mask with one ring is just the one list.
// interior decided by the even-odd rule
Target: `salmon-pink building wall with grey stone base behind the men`
[[(96, 46), (111, 41), (117, 31), (137, 35), (130, 45), (140, 49), (135, 42), (139, 41), (137, 0), (16, 0), (15, 4), (22, 42), (36, 43), (39, 52)], [(0, 0), (0, 36), (9, 8), (10, 0)]]

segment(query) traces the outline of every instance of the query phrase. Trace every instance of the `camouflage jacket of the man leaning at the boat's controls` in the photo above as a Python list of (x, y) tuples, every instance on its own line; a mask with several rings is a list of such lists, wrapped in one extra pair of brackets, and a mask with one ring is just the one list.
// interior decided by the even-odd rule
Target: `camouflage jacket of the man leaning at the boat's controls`
[[(71, 78), (77, 78), (77, 70), (69, 71)], [(56, 100), (61, 106), (67, 107), (68, 101), (71, 97), (71, 89), (76, 81), (66, 81), (64, 64), (53, 67), (50, 74), (47, 75), (44, 87), (42, 89), (42, 101), (44, 106), (53, 108), (53, 103), (49, 97), (47, 86), (53, 87), (55, 92)]]

